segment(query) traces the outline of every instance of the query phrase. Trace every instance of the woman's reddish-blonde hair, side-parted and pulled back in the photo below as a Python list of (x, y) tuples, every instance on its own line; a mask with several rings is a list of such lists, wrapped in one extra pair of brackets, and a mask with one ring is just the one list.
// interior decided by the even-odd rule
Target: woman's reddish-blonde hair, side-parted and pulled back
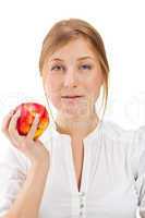
[[(65, 46), (71, 40), (74, 40), (78, 37), (83, 37), (90, 46), (92, 50), (96, 53), (100, 69), (104, 75), (104, 96), (102, 105), (105, 102), (105, 109), (107, 106), (108, 99), (108, 83), (109, 83), (109, 64), (107, 60), (107, 55), (104, 46), (102, 38), (94, 26), (88, 22), (81, 19), (69, 19), (61, 20), (57, 22), (46, 35), (40, 57), (39, 57), (39, 72), (43, 76), (43, 66), (45, 61), (59, 48)], [(104, 113), (105, 113), (104, 109)]]

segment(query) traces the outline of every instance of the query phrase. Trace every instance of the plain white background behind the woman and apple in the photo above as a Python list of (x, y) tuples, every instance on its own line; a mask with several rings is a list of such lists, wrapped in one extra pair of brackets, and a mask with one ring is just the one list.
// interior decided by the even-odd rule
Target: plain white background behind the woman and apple
[[(145, 13), (142, 0), (0, 1), (0, 124), (22, 101), (46, 105), (38, 60), (44, 37), (62, 19), (90, 22), (110, 64), (106, 119), (124, 129), (145, 124)], [(1, 157), (8, 141), (0, 133)]]

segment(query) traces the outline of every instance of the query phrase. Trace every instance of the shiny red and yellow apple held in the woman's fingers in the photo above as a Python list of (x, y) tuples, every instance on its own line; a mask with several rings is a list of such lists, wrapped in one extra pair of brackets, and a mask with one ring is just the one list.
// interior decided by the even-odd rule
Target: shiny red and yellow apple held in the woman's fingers
[(21, 111), (21, 117), (16, 123), (20, 135), (27, 135), (36, 113), (39, 116), (38, 128), (34, 136), (34, 140), (37, 140), (49, 124), (49, 114), (46, 107), (37, 102), (23, 102), (16, 107), (15, 111), (17, 110)]

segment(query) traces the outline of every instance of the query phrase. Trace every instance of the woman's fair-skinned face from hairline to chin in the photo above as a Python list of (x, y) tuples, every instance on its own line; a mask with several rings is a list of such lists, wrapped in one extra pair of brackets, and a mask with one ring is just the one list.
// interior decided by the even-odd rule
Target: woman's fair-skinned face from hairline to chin
[(84, 38), (74, 39), (53, 52), (45, 61), (43, 75), (47, 98), (59, 114), (77, 118), (94, 112), (102, 85), (102, 73)]

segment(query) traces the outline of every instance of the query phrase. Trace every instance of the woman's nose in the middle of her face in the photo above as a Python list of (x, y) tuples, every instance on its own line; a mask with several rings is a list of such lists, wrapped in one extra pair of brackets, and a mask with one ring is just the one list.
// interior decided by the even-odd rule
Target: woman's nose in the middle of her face
[(64, 86), (76, 86), (77, 85), (77, 74), (74, 69), (68, 69), (64, 75)]

